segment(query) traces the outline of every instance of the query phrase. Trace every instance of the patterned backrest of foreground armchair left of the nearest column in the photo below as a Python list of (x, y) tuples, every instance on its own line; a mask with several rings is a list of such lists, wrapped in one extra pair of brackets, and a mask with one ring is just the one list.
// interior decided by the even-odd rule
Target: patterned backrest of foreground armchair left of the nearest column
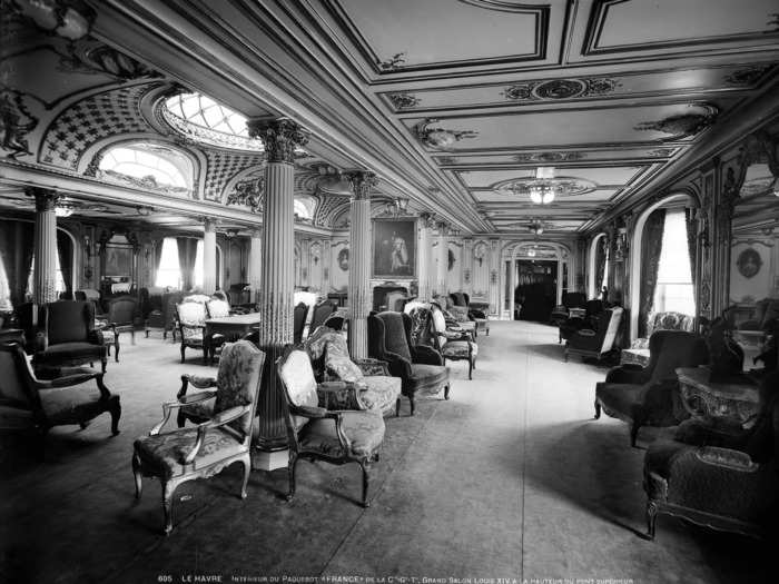
[(252, 433), (264, 364), (265, 353), (248, 340), (227, 343), (221, 349), (214, 414), (236, 406), (250, 405), (247, 414), (229, 423), (244, 436)]

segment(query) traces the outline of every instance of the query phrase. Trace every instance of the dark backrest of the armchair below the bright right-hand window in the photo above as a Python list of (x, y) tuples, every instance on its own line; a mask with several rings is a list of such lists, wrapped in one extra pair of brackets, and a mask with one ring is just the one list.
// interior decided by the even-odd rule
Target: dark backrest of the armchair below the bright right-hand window
[(697, 367), (709, 363), (706, 339), (686, 330), (658, 330), (649, 337), (651, 382), (676, 379), (678, 367)]

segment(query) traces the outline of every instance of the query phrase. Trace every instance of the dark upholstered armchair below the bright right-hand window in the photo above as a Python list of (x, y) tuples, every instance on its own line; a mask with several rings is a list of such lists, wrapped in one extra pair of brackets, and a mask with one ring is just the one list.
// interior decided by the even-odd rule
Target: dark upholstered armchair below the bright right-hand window
[(683, 330), (658, 330), (649, 339), (649, 352), (647, 367), (613, 367), (595, 386), (595, 419), (602, 409), (630, 424), (631, 446), (641, 426), (676, 426), (689, 417), (676, 369), (709, 362), (703, 338)]

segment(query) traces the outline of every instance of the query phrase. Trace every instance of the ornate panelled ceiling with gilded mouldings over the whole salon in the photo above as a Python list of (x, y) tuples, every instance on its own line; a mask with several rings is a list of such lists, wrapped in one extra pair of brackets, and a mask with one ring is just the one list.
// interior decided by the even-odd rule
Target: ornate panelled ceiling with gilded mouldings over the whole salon
[[(6, 83), (7, 160), (82, 175), (109, 137), (155, 138), (189, 152), (198, 197), (225, 206), (264, 157), (166, 129), (155, 103), (184, 87), (310, 131), (296, 191), (318, 201), (313, 226), (343, 227), (341, 172), (363, 169), (378, 198), (463, 232), (539, 219), (572, 236), (779, 113), (772, 0), (88, 3), (82, 41), (12, 29), (0, 73), (39, 75)], [(543, 208), (501, 189), (549, 166), (583, 188)]]

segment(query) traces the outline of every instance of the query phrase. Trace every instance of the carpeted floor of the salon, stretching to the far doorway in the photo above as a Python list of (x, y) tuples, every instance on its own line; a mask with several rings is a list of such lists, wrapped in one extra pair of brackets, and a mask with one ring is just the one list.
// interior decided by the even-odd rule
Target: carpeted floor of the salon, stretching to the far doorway
[(135, 502), (132, 441), (159, 419), (180, 374), (216, 369), (195, 350), (179, 364), (178, 347), (159, 335), (138, 335), (136, 346), (124, 335), (121, 363), (106, 378), (121, 396), (119, 436), (105, 415), (86, 430), (52, 430), (43, 462), (3, 451), (0, 581), (771, 582), (768, 544), (667, 516), (654, 542), (640, 536), (643, 451), (630, 448), (624, 424), (592, 419), (605, 367), (563, 363), (556, 337), (551, 327), (493, 323), (472, 382), (456, 362), (448, 402), (423, 400), (413, 418), (404, 402), (400, 418), (386, 418), (368, 509), (355, 504), (356, 465), (300, 463), (292, 503), (280, 498), (284, 469), (253, 473), (240, 501), (234, 465), (177, 491), (165, 537), (159, 484), (145, 481)]

